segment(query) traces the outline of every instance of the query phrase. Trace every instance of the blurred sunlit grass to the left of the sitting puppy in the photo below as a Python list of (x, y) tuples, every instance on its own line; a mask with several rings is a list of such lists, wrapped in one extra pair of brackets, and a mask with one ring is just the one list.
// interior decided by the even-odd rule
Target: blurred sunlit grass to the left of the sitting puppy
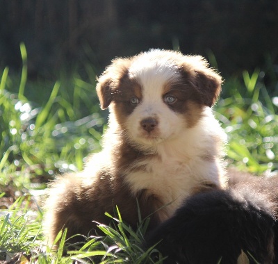
[[(24, 48), (22, 47), (22, 52)], [(24, 58), (24, 56), (22, 55)], [(98, 151), (105, 115), (99, 112), (94, 84), (75, 74), (47, 89), (42, 106), (24, 96), (25, 70), (20, 83), (3, 70), (0, 83), (0, 190), (13, 184), (18, 190), (44, 188), (38, 177), (76, 171), (83, 158)], [(19, 85), (19, 93), (9, 92)], [(31, 86), (33, 92), (35, 85)], [(67, 94), (66, 90), (72, 91)], [(32, 182), (34, 183), (32, 185)], [(28, 184), (30, 183), (30, 184)], [(2, 186), (2, 187), (1, 187)]]

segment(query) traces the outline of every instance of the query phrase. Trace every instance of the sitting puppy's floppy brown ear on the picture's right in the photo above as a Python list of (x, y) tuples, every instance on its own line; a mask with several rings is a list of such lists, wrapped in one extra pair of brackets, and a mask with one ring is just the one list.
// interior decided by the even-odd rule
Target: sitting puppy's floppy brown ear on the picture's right
[(222, 77), (215, 69), (208, 67), (202, 56), (190, 56), (188, 60), (183, 64), (183, 69), (190, 72), (190, 83), (195, 88), (199, 100), (205, 106), (213, 106), (221, 92)]

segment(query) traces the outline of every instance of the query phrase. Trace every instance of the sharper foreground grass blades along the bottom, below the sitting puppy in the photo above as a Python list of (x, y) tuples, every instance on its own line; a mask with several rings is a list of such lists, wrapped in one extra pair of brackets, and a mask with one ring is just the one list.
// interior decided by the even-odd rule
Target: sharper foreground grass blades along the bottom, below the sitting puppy
[[(83, 236), (85, 242), (74, 246), (65, 239), (65, 230), (58, 233), (56, 238), (56, 241), (60, 241), (58, 249), (51, 249), (42, 235), (42, 212), (39, 207), (34, 207), (32, 199), (30, 195), (19, 197), (10, 208), (0, 211), (0, 261), (11, 258), (24, 258), (30, 263), (39, 264), (66, 264), (72, 261), (158, 264), (163, 261), (163, 256), (154, 247), (142, 248), (148, 220), (139, 219), (138, 230), (133, 231), (124, 224), (119, 211), (118, 218), (107, 214), (113, 220), (111, 226), (99, 224), (103, 236)], [(71, 249), (68, 249), (69, 245)]]

